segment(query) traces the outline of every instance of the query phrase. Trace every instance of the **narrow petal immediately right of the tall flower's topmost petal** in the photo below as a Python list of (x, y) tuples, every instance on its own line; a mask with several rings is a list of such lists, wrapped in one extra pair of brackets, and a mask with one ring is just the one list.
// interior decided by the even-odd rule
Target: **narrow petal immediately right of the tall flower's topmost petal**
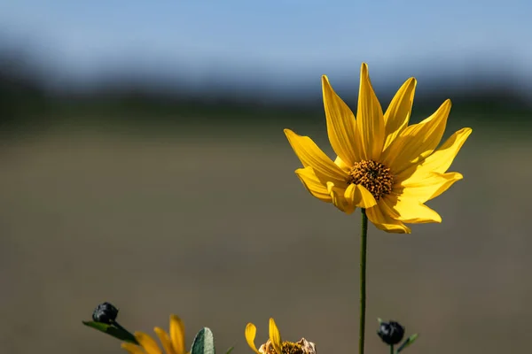
[(384, 113), (384, 134), (386, 139), (383, 150), (386, 150), (395, 138), (403, 132), (403, 129), (408, 126), (416, 84), (417, 81), (414, 78), (405, 81)]

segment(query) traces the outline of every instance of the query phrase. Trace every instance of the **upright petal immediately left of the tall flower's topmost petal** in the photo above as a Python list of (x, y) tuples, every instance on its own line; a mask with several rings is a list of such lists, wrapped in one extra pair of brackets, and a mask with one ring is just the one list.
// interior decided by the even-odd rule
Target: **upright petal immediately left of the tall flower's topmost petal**
[(322, 90), (324, 93), (325, 119), (327, 120), (327, 135), (332, 150), (349, 165), (358, 161), (355, 143), (356, 120), (355, 115), (331, 87), (327, 76), (322, 76)]

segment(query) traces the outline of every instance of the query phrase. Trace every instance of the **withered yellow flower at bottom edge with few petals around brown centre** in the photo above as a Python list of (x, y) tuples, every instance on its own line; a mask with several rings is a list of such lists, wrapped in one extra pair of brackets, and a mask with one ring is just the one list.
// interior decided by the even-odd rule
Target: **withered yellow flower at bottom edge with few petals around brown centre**
[(305, 338), (301, 338), (299, 342), (283, 342), (273, 319), (270, 319), (270, 339), (262, 344), (258, 350), (254, 345), (256, 333), (257, 327), (253, 323), (248, 323), (246, 326), (246, 342), (256, 354), (316, 354), (316, 344), (307, 341)]

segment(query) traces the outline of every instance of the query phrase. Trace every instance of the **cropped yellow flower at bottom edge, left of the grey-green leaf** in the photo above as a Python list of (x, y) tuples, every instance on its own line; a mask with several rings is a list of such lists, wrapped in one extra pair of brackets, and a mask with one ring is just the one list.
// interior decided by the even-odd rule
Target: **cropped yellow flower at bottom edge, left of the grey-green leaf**
[[(162, 348), (166, 354), (188, 354), (184, 349), (184, 324), (176, 315), (170, 316), (170, 334), (160, 328), (153, 329), (159, 337)], [(135, 338), (140, 345), (123, 342), (121, 347), (128, 350), (130, 354), (162, 354), (157, 342), (143, 332), (135, 332)]]

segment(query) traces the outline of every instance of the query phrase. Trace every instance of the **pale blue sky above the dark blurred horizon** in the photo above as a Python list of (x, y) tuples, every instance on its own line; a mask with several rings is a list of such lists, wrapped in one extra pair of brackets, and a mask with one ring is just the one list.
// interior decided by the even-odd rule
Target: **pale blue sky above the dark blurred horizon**
[(4, 0), (0, 35), (29, 44), (58, 81), (134, 70), (289, 85), (357, 80), (362, 61), (377, 81), (472, 68), (529, 78), (531, 13), (524, 0)]

